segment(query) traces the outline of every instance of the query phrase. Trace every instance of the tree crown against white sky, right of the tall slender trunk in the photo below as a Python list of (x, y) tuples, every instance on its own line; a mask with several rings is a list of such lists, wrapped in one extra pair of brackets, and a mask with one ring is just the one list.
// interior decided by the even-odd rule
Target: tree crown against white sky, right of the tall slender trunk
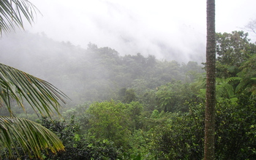
[(244, 31), (217, 33), (217, 77), (235, 77), (241, 64), (255, 52), (255, 44), (247, 36)]

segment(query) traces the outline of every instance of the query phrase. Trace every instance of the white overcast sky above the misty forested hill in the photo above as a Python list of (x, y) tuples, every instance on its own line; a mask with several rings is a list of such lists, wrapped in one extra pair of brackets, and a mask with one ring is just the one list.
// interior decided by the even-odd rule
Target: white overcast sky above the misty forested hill
[[(206, 0), (31, 0), (26, 31), (56, 41), (116, 49), (120, 55), (190, 60), (206, 46)], [(256, 19), (255, 0), (216, 0), (216, 31), (238, 31)]]

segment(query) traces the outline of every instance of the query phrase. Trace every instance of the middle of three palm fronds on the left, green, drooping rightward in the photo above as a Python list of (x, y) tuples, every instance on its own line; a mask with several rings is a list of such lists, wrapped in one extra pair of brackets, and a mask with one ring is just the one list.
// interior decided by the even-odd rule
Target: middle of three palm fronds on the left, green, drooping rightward
[(31, 105), (34, 111), (39, 111), (42, 116), (45, 116), (45, 114), (50, 116), (50, 113), (54, 111), (59, 113), (61, 106), (59, 100), (62, 103), (66, 103), (64, 98), (68, 98), (67, 95), (47, 81), (1, 63), (0, 91), (1, 105), (6, 105), (11, 115), (12, 99), (24, 111), (23, 99)]

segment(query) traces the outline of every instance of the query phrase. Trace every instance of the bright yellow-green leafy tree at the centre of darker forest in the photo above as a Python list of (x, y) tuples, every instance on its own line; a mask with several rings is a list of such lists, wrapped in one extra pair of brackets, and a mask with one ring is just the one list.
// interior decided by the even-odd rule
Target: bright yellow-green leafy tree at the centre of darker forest
[(96, 138), (108, 139), (118, 147), (127, 148), (131, 121), (126, 111), (127, 105), (113, 100), (91, 104), (87, 111), (91, 115), (89, 132)]

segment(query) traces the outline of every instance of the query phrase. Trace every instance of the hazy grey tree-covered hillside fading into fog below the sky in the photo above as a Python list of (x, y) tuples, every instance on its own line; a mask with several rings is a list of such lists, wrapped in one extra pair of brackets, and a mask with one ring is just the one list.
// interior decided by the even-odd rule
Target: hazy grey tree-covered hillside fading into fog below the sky
[[(195, 62), (158, 60), (140, 53), (121, 56), (115, 49), (91, 43), (83, 49), (69, 41), (53, 41), (44, 33), (10, 33), (0, 40), (0, 47), (1, 63), (49, 81), (72, 99), (69, 105), (118, 99), (122, 88), (135, 88), (141, 95), (173, 80), (192, 81), (195, 73), (203, 72)], [(174, 49), (169, 52), (178, 54)]]

